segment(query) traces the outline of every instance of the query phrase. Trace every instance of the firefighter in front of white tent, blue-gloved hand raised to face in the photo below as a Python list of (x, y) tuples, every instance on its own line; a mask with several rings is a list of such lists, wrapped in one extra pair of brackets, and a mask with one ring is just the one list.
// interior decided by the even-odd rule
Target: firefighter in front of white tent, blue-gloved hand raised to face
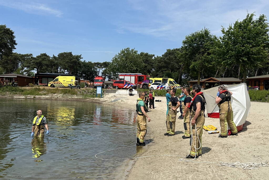
[(227, 130), (227, 124), (229, 125), (231, 129), (231, 135), (237, 134), (237, 128), (235, 123), (233, 122), (233, 110), (231, 105), (231, 95), (232, 92), (227, 91), (226, 87), (224, 85), (221, 85), (218, 88), (217, 97), (215, 103), (218, 104), (218, 107), (220, 109), (220, 127), (221, 127), (221, 133), (219, 137), (227, 137), (228, 136), (228, 130)]

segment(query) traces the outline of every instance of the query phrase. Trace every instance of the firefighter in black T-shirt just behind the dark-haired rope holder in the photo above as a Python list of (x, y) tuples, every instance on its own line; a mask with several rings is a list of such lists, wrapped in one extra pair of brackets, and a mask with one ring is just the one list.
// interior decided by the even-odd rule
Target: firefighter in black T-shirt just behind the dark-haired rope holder
[(185, 133), (182, 136), (182, 138), (187, 139), (187, 138), (190, 138), (190, 120), (193, 118), (193, 115), (190, 112), (190, 109), (185, 108), (185, 107), (189, 106), (190, 102), (192, 101), (192, 97), (190, 96), (190, 88), (184, 88), (183, 92), (186, 95), (186, 98), (184, 99), (183, 106), (182, 106), (182, 110), (183, 110), (182, 116), (184, 117), (183, 125), (185, 129)]

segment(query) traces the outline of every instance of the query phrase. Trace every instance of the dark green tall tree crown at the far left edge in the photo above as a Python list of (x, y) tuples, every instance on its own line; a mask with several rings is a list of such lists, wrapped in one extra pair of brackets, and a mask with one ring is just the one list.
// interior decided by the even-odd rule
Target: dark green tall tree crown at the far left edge
[(16, 45), (14, 32), (6, 25), (0, 25), (0, 60), (4, 55), (9, 56)]

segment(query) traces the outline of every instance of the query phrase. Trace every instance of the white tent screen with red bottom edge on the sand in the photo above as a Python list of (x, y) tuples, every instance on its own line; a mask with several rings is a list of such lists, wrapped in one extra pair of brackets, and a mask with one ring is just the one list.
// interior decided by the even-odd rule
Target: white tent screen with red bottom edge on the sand
[[(231, 98), (233, 122), (235, 123), (237, 130), (241, 131), (250, 109), (250, 98), (247, 92), (247, 85), (246, 83), (241, 83), (225, 86), (228, 87), (227, 89), (233, 93)], [(204, 93), (204, 98), (206, 99), (207, 117), (220, 118), (219, 108), (215, 103), (218, 87), (219, 86), (202, 90)], [(228, 134), (231, 134), (229, 126)]]

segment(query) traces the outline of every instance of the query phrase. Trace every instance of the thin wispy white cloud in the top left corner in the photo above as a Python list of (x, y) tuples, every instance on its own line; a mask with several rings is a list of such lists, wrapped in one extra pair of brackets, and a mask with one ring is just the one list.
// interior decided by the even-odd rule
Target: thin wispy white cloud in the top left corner
[(38, 2), (0, 0), (0, 5), (13, 8), (13, 9), (18, 9), (21, 11), (25, 11), (31, 14), (50, 14), (56, 17), (61, 17), (63, 14), (59, 10), (56, 10), (54, 8), (49, 7), (48, 5), (38, 3)]

